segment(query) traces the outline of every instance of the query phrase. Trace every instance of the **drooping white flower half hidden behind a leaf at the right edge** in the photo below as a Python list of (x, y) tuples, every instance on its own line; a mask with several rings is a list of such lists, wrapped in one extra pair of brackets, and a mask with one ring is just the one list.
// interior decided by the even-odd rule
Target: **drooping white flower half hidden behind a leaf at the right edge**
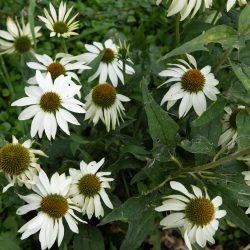
[(222, 124), (222, 135), (219, 138), (218, 146), (227, 147), (232, 149), (236, 144), (237, 139), (237, 126), (236, 126), (236, 117), (239, 112), (246, 109), (244, 106), (239, 106), (236, 110), (232, 111), (230, 107), (225, 107), (225, 115), (223, 117)]

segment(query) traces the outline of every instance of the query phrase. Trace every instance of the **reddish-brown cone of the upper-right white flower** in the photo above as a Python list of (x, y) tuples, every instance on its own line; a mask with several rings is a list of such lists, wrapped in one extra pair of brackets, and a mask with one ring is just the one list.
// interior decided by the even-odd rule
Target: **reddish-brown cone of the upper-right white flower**
[(205, 77), (198, 69), (190, 69), (182, 76), (181, 84), (184, 90), (197, 93), (203, 89)]

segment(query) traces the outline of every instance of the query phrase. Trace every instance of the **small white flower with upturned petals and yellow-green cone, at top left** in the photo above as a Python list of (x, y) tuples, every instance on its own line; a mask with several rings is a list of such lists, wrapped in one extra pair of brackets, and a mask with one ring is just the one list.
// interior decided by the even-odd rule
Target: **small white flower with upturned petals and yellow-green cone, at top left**
[(50, 8), (50, 14), (49, 12), (44, 9), (44, 15), (38, 16), (46, 25), (46, 27), (51, 31), (50, 36), (58, 36), (58, 37), (64, 37), (68, 38), (73, 35), (78, 35), (78, 33), (75, 32), (76, 29), (78, 29), (79, 21), (74, 21), (76, 16), (73, 16), (70, 20), (68, 20), (68, 17), (73, 9), (71, 7), (67, 11), (67, 5), (63, 1), (60, 3), (59, 11), (56, 13), (56, 10), (52, 3), (49, 4)]

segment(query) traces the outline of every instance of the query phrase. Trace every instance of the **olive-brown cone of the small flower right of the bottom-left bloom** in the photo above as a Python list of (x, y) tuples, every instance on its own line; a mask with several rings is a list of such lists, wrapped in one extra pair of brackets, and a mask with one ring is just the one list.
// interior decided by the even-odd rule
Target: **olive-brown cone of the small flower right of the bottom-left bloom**
[(86, 174), (78, 182), (79, 192), (87, 197), (93, 197), (101, 189), (99, 178), (95, 174)]

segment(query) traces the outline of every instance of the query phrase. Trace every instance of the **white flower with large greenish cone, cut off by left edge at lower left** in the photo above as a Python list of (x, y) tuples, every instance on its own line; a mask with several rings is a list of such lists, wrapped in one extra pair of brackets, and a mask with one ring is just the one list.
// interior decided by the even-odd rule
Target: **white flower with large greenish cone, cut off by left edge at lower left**
[(21, 144), (15, 136), (12, 136), (12, 143), (0, 148), (0, 172), (3, 172), (9, 181), (3, 192), (16, 183), (31, 188), (33, 177), (41, 169), (36, 155), (46, 156), (43, 151), (31, 148), (32, 143), (31, 140), (26, 140)]

